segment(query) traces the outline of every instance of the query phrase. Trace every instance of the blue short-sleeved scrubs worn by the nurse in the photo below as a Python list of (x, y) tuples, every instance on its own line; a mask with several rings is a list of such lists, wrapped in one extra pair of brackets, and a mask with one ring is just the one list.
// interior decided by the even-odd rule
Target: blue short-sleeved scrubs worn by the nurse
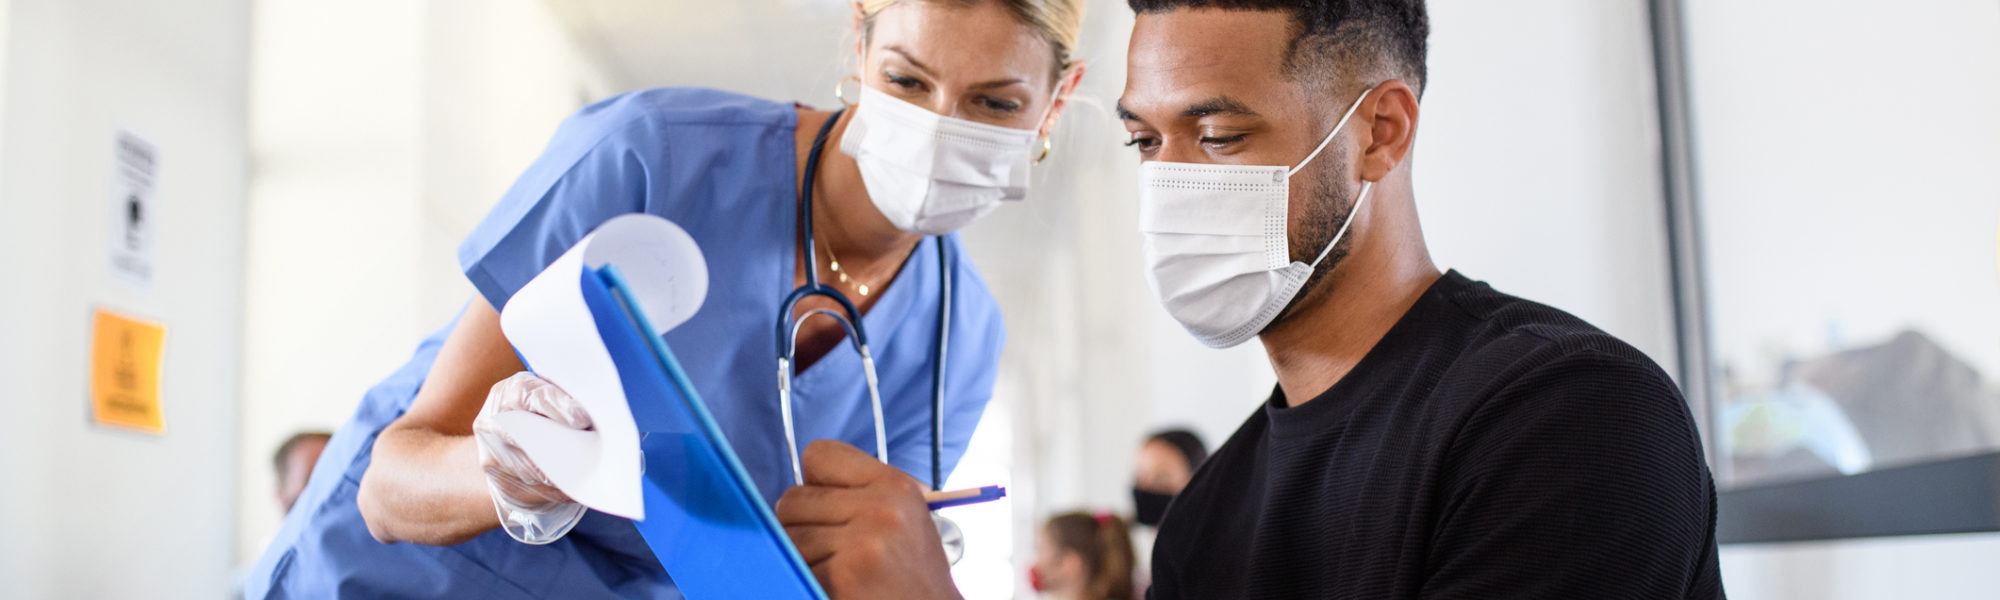
[[(778, 420), (774, 328), (792, 290), (796, 166), (790, 104), (716, 90), (646, 90), (584, 108), (458, 248), (466, 278), (494, 306), (604, 220), (650, 212), (708, 256), (708, 300), (666, 334), (766, 502), (792, 484)], [(832, 146), (834, 142), (828, 142)], [(890, 462), (930, 478), (930, 386), (940, 298), (936, 238), (926, 238), (862, 318), (876, 354)], [(946, 238), (958, 252), (956, 236)], [(954, 260), (944, 470), (964, 454), (992, 396), (1000, 312), (980, 276)], [(368, 390), (340, 426), (304, 496), (244, 582), (248, 598), (678, 598), (632, 522), (588, 512), (548, 546), (490, 530), (456, 546), (380, 544), (354, 494), (376, 434), (408, 410), (450, 324)], [(798, 374), (800, 442), (874, 444), (860, 356), (838, 346)]]

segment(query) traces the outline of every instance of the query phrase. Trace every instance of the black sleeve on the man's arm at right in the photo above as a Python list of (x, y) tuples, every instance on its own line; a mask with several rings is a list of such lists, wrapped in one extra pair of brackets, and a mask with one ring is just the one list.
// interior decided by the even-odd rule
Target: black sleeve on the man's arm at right
[[(1636, 352), (1632, 352), (1636, 354)], [(1578, 348), (1458, 430), (1424, 598), (1690, 598), (1714, 484), (1686, 404), (1646, 360)]]

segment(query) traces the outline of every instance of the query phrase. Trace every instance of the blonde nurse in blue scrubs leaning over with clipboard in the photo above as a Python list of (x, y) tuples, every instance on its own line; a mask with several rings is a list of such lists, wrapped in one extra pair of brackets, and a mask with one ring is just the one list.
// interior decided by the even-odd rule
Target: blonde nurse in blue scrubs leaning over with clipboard
[[(766, 502), (792, 484), (772, 346), (784, 298), (808, 270), (852, 298), (878, 364), (888, 460), (930, 480), (932, 344), (950, 284), (948, 472), (992, 396), (1002, 326), (978, 272), (936, 244), (954, 250), (952, 230), (1020, 200), (1026, 164), (1048, 158), (1048, 132), (1084, 74), (1070, 58), (1082, 0), (868, 0), (854, 10), (858, 72), (844, 110), (646, 90), (564, 122), (460, 246), (478, 294), (334, 434), (244, 582), (248, 596), (678, 596), (630, 522), (542, 484), (482, 418), (532, 410), (588, 426), (562, 390), (520, 374), (498, 308), (628, 212), (680, 224), (710, 262), (708, 300), (666, 340)], [(820, 156), (816, 172), (808, 156)], [(800, 244), (802, 198), (812, 254)], [(792, 316), (820, 308), (838, 310), (814, 296)], [(794, 370), (800, 440), (874, 448), (860, 356), (834, 320), (804, 322)]]

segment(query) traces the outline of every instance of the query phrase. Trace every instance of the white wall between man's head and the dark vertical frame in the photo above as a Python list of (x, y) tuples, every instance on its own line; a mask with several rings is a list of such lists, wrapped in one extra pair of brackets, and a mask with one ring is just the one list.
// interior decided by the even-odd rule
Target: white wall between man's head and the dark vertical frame
[(1430, 2), (1416, 196), (1438, 264), (1676, 372), (1642, 0)]

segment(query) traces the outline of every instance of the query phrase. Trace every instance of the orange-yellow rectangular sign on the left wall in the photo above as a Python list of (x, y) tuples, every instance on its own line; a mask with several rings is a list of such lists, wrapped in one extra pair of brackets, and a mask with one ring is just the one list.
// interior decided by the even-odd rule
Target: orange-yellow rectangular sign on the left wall
[(96, 310), (90, 334), (90, 416), (98, 424), (164, 432), (160, 352), (166, 326)]

